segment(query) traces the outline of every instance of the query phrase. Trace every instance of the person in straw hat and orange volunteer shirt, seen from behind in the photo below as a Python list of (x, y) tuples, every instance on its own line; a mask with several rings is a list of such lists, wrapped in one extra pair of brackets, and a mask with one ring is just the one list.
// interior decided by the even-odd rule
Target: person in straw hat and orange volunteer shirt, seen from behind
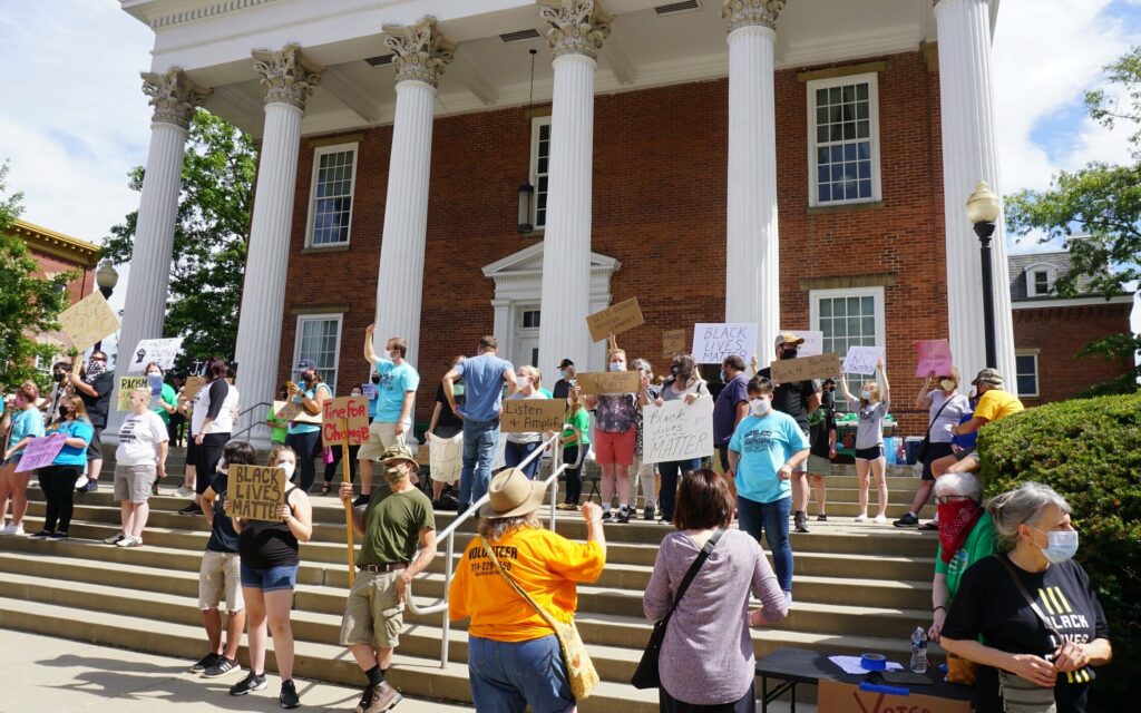
[[(545, 486), (517, 468), (492, 478), (491, 502), (479, 509), (479, 537), (468, 543), (448, 589), (448, 616), (470, 617), (468, 671), (479, 711), (565, 713), (575, 707), (555, 632), (500, 575), (483, 540), (507, 574), (564, 623), (574, 618), (576, 583), (594, 582), (606, 565), (601, 509), (582, 507), (586, 542), (543, 529), (535, 511)], [(551, 665), (559, 662), (558, 665)]]

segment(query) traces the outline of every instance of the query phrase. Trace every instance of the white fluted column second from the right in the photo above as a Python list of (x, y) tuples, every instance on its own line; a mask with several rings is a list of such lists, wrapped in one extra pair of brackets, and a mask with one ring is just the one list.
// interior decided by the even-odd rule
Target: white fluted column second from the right
[(772, 44), (782, 5), (727, 0), (721, 10), (729, 31), (725, 318), (758, 324), (759, 354), (780, 330)]

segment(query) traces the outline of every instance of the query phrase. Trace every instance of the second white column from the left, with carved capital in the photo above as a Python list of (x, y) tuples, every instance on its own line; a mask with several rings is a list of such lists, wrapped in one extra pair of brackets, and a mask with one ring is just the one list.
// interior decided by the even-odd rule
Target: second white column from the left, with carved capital
[[(253, 58), (266, 87), (266, 120), (237, 322), (235, 360), (243, 410), (273, 402), (277, 392), (301, 116), (322, 71), (305, 59), (297, 44), (288, 44), (281, 51), (259, 50)], [(243, 416), (237, 429), (262, 421), (264, 415), (265, 408), (254, 410)], [(268, 431), (256, 428), (250, 440), (267, 443)]]

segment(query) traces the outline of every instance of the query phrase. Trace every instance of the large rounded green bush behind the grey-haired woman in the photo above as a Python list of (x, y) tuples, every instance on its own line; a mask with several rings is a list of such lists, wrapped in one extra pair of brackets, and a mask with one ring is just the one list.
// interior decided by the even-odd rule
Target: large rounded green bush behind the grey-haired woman
[(1074, 508), (1077, 560), (1109, 621), (1112, 663), (1098, 672), (1093, 710), (1135, 695), (1141, 680), (1141, 394), (1049, 404), (979, 434), (987, 496), (1036, 480)]

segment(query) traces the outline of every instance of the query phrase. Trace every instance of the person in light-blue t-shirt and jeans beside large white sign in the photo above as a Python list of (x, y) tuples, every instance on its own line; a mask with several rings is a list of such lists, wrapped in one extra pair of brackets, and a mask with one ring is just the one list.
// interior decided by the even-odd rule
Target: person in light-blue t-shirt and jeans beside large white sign
[(808, 439), (796, 420), (772, 408), (772, 382), (756, 375), (748, 382), (748, 415), (729, 439), (729, 477), (737, 486), (741, 529), (760, 542), (763, 532), (785, 599), (792, 602), (790, 479), (808, 459)]

